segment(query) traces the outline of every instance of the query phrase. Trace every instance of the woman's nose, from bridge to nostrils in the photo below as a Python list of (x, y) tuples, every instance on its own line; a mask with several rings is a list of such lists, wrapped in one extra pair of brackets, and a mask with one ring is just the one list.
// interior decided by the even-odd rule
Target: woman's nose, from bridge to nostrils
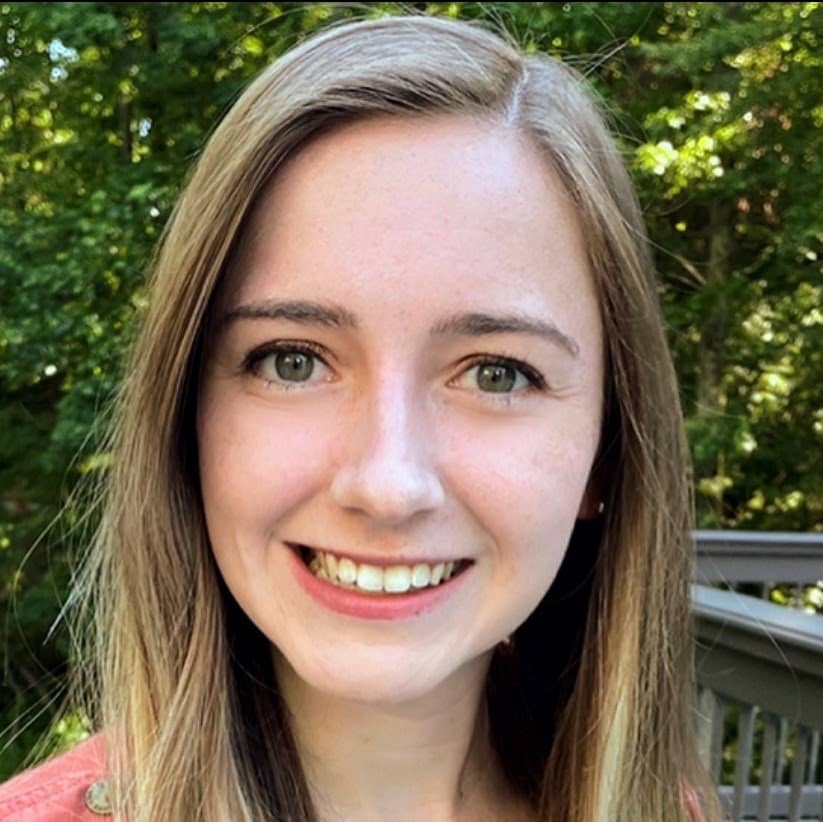
[(338, 505), (386, 525), (432, 511), (444, 499), (428, 415), (419, 398), (397, 380), (390, 383), (352, 410), (350, 439), (331, 486)]

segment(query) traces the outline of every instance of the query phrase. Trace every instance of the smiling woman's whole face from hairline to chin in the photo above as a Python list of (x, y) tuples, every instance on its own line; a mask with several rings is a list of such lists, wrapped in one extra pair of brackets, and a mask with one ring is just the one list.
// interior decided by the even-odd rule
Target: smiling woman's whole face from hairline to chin
[(537, 150), (474, 120), (349, 125), (278, 173), (221, 297), (197, 424), (220, 571), (309, 685), (421, 696), (487, 661), (551, 585), (596, 505), (584, 242)]

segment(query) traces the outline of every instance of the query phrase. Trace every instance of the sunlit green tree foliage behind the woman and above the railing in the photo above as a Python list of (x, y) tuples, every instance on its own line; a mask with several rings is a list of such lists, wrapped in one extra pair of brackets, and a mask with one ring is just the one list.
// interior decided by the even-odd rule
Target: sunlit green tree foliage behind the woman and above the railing
[[(70, 577), (54, 520), (104, 471), (99, 419), (193, 158), (319, 26), (418, 10), (584, 70), (644, 204), (703, 527), (823, 530), (819, 3), (0, 6), (0, 778), (55, 721)], [(46, 639), (48, 638), (48, 642)], [(63, 717), (52, 744), (70, 739)]]

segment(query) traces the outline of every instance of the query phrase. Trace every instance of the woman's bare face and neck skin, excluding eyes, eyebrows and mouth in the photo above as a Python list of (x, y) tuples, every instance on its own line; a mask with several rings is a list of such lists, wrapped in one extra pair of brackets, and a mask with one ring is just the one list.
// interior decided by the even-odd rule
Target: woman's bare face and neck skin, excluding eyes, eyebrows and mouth
[[(270, 184), (219, 315), (274, 299), (333, 304), (357, 327), (219, 324), (200, 470), (217, 564), (272, 641), (321, 818), (528, 818), (490, 750), (482, 695), (494, 647), (597, 504), (603, 340), (574, 208), (511, 129), (445, 116), (349, 125)], [(465, 312), (528, 315), (560, 334), (431, 334)], [(275, 341), (319, 347), (308, 380), (284, 380), (282, 354), (244, 367)], [(528, 363), (546, 385), (504, 369), (495, 390), (482, 356)], [(432, 611), (367, 621), (310, 599), (285, 542), (473, 564)]]

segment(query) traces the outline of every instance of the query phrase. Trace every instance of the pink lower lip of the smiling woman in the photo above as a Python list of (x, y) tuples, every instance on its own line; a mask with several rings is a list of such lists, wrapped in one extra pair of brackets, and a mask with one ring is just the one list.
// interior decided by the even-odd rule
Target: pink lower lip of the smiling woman
[(299, 549), (289, 546), (289, 564), (300, 587), (317, 603), (338, 614), (360, 619), (395, 620), (420, 616), (436, 608), (462, 587), (471, 568), (435, 588), (423, 588), (408, 594), (362, 594), (348, 588), (338, 588), (316, 577), (303, 562)]

